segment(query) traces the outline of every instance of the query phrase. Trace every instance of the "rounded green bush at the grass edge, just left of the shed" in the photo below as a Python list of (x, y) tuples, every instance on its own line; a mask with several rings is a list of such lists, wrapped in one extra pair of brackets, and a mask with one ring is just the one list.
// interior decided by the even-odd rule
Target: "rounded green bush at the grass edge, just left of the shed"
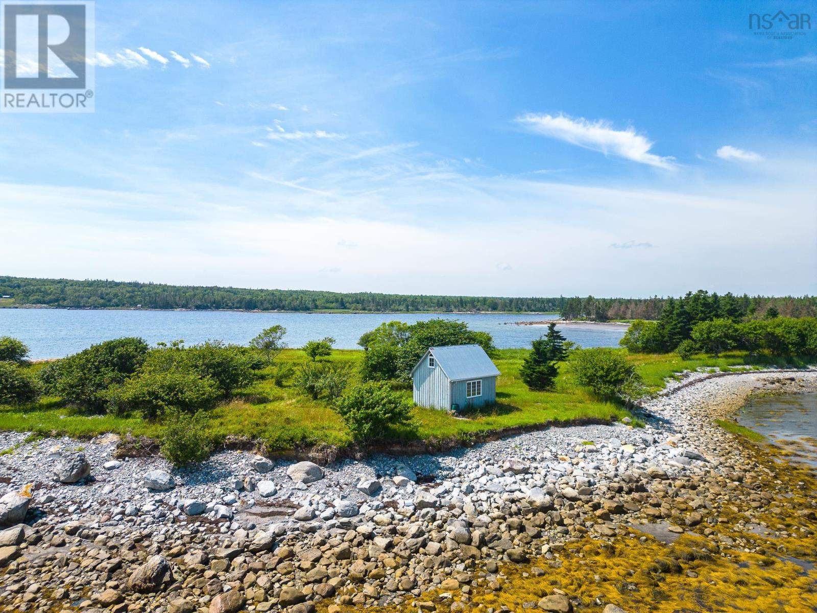
[(355, 441), (372, 443), (386, 438), (391, 428), (411, 423), (412, 405), (385, 383), (359, 383), (335, 402), (335, 410)]

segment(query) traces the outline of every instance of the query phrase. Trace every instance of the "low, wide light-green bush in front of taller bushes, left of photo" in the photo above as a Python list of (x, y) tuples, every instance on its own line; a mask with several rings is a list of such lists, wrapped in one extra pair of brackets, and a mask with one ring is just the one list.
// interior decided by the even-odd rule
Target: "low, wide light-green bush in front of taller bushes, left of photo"
[(137, 412), (142, 418), (155, 419), (168, 411), (194, 413), (209, 409), (221, 392), (211, 378), (192, 370), (143, 371), (121, 385), (111, 387), (109, 411), (115, 414)]

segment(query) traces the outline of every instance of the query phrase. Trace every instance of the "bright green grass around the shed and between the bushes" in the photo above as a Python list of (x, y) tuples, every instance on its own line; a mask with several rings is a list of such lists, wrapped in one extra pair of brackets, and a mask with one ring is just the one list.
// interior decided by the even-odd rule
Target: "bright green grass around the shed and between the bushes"
[[(434, 441), (455, 438), (467, 441), (478, 432), (510, 427), (536, 426), (545, 423), (570, 423), (582, 420), (621, 419), (627, 410), (613, 403), (596, 400), (573, 381), (569, 369), (561, 365), (556, 388), (552, 392), (530, 392), (519, 378), (524, 349), (497, 352), (494, 361), (502, 373), (498, 378), (497, 404), (479, 411), (453, 417), (434, 409), (413, 409), (412, 428), (395, 432), (400, 441)], [(362, 351), (334, 351), (332, 361), (355, 366)], [(627, 356), (644, 378), (650, 392), (663, 387), (664, 378), (685, 369), (718, 366), (784, 365), (784, 360), (750, 357), (734, 352), (718, 358), (695, 356), (681, 360), (674, 354), (662, 356)], [(306, 360), (300, 350), (284, 351), (279, 360), (301, 363)], [(38, 367), (35, 365), (34, 367)], [(402, 392), (411, 398), (411, 392)], [(25, 407), (0, 407), (0, 429), (41, 434), (67, 434), (87, 437), (104, 432), (133, 436), (158, 436), (161, 426), (141, 418), (121, 418), (112, 415), (87, 416), (74, 414), (57, 398), (44, 398)], [(234, 398), (208, 413), (208, 436), (215, 443), (227, 436), (241, 436), (263, 441), (268, 450), (291, 450), (298, 445), (319, 443), (344, 446), (351, 442), (349, 433), (338, 415), (324, 403), (311, 400), (287, 385), (276, 387), (261, 371), (261, 378), (237, 392)]]

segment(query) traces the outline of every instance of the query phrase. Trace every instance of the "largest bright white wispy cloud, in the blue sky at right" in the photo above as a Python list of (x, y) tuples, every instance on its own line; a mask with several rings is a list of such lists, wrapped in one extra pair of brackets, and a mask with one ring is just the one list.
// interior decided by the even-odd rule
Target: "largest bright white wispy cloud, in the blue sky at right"
[(634, 162), (659, 168), (673, 168), (674, 166), (672, 163), (674, 158), (651, 154), (652, 141), (637, 134), (635, 128), (632, 127), (626, 130), (616, 130), (609, 122), (601, 119), (596, 121), (588, 121), (583, 118), (573, 119), (565, 114), (554, 116), (528, 113), (516, 118), (516, 121), (525, 125), (531, 132), (586, 149), (632, 159)]

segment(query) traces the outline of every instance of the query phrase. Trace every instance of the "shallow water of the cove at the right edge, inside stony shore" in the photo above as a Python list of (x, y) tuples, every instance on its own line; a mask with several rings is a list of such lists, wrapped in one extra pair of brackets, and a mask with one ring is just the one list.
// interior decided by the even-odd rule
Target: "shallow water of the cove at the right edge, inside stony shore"
[(743, 407), (738, 423), (817, 466), (817, 394), (755, 398)]

